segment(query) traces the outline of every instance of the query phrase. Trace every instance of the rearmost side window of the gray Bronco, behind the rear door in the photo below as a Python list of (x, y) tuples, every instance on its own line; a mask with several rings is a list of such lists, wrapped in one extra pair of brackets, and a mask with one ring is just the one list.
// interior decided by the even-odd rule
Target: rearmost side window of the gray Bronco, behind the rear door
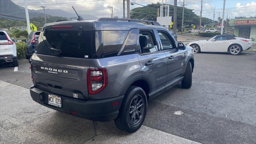
[(95, 33), (97, 58), (116, 56), (124, 43), (128, 30), (99, 30)]

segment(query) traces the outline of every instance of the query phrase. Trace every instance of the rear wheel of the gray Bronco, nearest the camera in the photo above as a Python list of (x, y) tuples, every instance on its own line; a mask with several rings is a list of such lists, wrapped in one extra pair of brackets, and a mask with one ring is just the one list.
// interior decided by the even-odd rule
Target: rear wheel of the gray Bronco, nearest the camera
[[(136, 104), (136, 100), (139, 103)], [(146, 110), (147, 97), (144, 90), (138, 86), (130, 86), (124, 95), (124, 100), (119, 110), (119, 114), (114, 120), (116, 127), (129, 133), (136, 132), (145, 120)], [(138, 119), (136, 119), (136, 117)]]

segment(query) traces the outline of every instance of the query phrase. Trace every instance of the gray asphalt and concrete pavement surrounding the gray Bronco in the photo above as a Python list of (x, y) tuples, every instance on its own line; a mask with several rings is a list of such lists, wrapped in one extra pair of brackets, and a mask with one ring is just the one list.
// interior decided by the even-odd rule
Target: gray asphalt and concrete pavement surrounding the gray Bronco
[[(252, 143), (256, 142), (256, 56), (195, 54), (190, 89), (171, 88), (148, 103), (134, 134), (114, 122), (93, 122), (37, 104), (28, 60), (0, 67), (0, 143)], [(190, 141), (191, 140), (191, 141)]]

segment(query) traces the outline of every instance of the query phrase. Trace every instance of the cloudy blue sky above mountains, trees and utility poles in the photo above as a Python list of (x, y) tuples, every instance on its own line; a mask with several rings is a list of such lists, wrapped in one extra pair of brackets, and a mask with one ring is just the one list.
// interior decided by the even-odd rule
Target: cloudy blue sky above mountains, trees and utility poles
[[(24, 6), (24, 0), (12, 0), (15, 4)], [(38, 10), (45, 6), (50, 9), (62, 9), (66, 12), (74, 12), (71, 6), (76, 8), (76, 11), (81, 14), (92, 14), (97, 17), (110, 17), (110, 8), (114, 8), (114, 16), (122, 18), (122, 0), (27, 0), (28, 8)], [(165, 3), (166, 0), (164, 0)], [(162, 0), (130, 0), (142, 5), (151, 3), (162, 3)], [(167, 4), (173, 5), (174, 0), (167, 0)], [(181, 5), (183, 0), (178, 0), (178, 5)], [(185, 7), (194, 9), (194, 12), (199, 15), (201, 8), (201, 0), (185, 0)], [(140, 5), (130, 5), (130, 10)], [(215, 18), (218, 18), (219, 13), (222, 17), (223, 0), (203, 0), (202, 16), (213, 19), (215, 10)], [(256, 16), (256, 0), (226, 0), (225, 18), (228, 15), (230, 18), (235, 16)]]

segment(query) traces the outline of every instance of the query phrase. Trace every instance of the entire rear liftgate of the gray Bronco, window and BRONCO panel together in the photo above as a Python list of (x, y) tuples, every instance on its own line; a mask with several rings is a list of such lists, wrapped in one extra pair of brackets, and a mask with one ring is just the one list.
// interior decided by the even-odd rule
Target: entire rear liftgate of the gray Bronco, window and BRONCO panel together
[(92, 54), (92, 22), (44, 26), (32, 56), (34, 85), (49, 93), (88, 99), (87, 70)]

